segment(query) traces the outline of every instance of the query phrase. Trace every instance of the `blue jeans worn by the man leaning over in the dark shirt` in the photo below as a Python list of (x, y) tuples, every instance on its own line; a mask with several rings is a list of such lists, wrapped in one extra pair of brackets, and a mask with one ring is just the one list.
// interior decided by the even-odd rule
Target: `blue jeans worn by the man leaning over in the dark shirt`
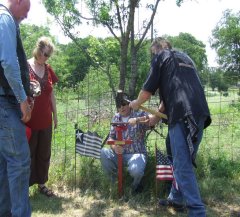
[[(194, 149), (197, 151), (202, 140), (203, 127), (205, 118), (198, 122), (199, 133), (198, 141), (194, 144)], [(172, 185), (168, 199), (177, 204), (184, 202), (188, 208), (190, 217), (206, 216), (205, 206), (201, 200), (195, 172), (192, 165), (187, 141), (184, 123), (178, 122), (173, 127), (169, 128), (171, 151), (173, 156), (174, 175), (179, 186), (176, 190)]]

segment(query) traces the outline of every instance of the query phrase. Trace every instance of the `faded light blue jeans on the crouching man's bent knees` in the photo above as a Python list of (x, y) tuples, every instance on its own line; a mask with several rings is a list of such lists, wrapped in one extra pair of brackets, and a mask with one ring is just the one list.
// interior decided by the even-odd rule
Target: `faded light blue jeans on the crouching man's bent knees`
[[(101, 163), (104, 172), (114, 182), (117, 177), (118, 160), (117, 154), (108, 148), (101, 150)], [(146, 167), (146, 155), (144, 154), (123, 154), (123, 166), (127, 166), (130, 176), (133, 178), (132, 189), (139, 185)]]

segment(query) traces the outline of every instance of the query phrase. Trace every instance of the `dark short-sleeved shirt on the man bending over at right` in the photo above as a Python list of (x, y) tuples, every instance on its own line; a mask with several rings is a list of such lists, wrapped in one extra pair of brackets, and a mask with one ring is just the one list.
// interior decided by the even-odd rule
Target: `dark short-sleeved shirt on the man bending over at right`
[(142, 89), (152, 94), (159, 89), (169, 125), (188, 115), (192, 115), (196, 121), (200, 117), (207, 117), (205, 127), (211, 123), (204, 90), (194, 63), (182, 52), (163, 50), (155, 56)]

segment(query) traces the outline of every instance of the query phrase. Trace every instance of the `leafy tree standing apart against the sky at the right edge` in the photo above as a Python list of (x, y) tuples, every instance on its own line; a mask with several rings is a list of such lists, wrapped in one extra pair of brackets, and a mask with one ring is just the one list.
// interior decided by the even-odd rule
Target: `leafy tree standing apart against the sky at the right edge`
[(223, 13), (212, 31), (210, 42), (217, 51), (218, 63), (226, 74), (231, 75), (232, 82), (236, 82), (236, 76), (239, 78), (240, 75), (240, 11)]

